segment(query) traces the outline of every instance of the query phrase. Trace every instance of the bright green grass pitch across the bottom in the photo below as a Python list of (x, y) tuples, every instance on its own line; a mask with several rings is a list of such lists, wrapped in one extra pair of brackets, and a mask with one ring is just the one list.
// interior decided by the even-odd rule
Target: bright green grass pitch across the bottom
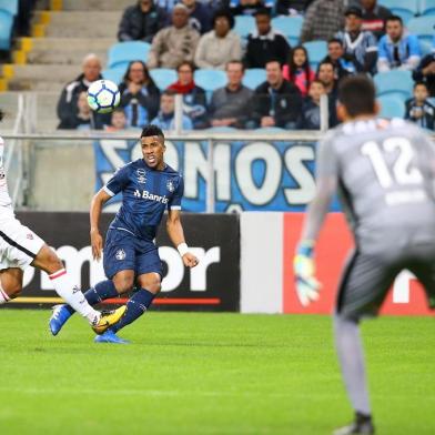
[[(351, 419), (331, 318), (151, 312), (92, 342), (0, 311), (0, 434), (330, 434)], [(435, 434), (435, 322), (363, 325), (377, 434)]]

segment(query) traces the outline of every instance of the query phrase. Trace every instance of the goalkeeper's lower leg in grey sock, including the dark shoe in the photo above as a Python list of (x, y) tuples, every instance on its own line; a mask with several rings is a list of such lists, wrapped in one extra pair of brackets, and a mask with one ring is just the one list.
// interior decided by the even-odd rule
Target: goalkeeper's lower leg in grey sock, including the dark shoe
[(334, 435), (374, 434), (358, 322), (336, 314), (334, 333), (344, 384), (355, 409), (354, 423)]

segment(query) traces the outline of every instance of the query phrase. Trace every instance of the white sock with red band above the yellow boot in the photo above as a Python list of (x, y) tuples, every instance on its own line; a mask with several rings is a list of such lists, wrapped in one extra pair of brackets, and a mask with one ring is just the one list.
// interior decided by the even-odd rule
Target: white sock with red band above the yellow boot
[(80, 289), (74, 285), (70, 275), (64, 269), (49, 275), (55, 292), (61, 296), (67, 304), (72, 306), (74, 311), (88, 318), (89, 323), (93, 324), (100, 318), (100, 313), (92, 308), (84, 299)]

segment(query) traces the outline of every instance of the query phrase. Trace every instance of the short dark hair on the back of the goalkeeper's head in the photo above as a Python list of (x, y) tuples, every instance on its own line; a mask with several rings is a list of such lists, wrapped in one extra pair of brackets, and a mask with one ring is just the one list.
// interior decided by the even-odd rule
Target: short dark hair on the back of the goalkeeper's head
[(376, 90), (365, 74), (345, 77), (338, 85), (338, 100), (351, 117), (375, 113)]

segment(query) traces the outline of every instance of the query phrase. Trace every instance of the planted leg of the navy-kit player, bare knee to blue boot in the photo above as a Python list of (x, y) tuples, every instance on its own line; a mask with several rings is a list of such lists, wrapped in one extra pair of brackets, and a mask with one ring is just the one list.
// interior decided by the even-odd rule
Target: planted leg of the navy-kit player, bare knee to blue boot
[(139, 318), (152, 304), (155, 295), (161, 290), (161, 276), (159, 273), (151, 272), (139, 275), (136, 279), (136, 292), (127, 303), (127, 310), (121, 320), (110, 327), (103, 335), (95, 337), (98, 343), (122, 343), (125, 342), (115, 334), (124, 326)]

